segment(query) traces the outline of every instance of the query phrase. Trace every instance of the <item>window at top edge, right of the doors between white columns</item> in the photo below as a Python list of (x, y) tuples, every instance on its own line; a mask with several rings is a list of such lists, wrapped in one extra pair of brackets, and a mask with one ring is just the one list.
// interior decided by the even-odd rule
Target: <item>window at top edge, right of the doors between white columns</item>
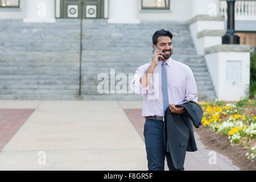
[(170, 9), (170, 0), (142, 0), (142, 9)]

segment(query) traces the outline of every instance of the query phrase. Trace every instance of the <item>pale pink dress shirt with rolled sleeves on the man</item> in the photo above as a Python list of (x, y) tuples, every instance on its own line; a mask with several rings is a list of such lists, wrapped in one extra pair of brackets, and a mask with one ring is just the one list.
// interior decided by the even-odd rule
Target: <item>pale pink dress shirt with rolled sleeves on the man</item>
[[(168, 99), (170, 104), (181, 104), (184, 100), (189, 100), (197, 96), (197, 86), (193, 72), (188, 65), (173, 60), (171, 57), (166, 60)], [(162, 62), (158, 61), (150, 84), (142, 88), (139, 79), (150, 66), (151, 61), (137, 68), (134, 78), (131, 81), (131, 89), (137, 96), (144, 96), (142, 116), (164, 116), (163, 92), (162, 92)], [(197, 103), (198, 97), (193, 101)]]

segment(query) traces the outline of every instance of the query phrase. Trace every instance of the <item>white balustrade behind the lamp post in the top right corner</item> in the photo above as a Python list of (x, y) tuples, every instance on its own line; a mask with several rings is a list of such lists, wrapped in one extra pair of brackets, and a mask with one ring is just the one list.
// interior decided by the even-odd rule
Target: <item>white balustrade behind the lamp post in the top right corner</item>
[[(228, 5), (225, 0), (220, 1), (220, 14), (226, 17)], [(235, 3), (236, 20), (255, 20), (256, 21), (256, 0), (238, 0)]]

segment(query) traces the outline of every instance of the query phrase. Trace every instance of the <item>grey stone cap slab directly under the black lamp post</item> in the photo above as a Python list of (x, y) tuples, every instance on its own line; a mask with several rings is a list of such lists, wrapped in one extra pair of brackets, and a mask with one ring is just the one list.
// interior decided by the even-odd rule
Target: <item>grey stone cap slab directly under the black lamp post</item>
[(250, 52), (250, 45), (245, 44), (222, 44), (204, 49), (205, 55), (217, 52)]

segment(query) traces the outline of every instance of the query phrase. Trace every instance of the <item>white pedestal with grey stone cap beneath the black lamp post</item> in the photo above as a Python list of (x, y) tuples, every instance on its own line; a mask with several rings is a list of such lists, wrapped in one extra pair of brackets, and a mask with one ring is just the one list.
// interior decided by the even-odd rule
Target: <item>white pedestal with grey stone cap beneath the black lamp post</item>
[(249, 97), (250, 45), (207, 47), (205, 60), (218, 100), (239, 101)]

